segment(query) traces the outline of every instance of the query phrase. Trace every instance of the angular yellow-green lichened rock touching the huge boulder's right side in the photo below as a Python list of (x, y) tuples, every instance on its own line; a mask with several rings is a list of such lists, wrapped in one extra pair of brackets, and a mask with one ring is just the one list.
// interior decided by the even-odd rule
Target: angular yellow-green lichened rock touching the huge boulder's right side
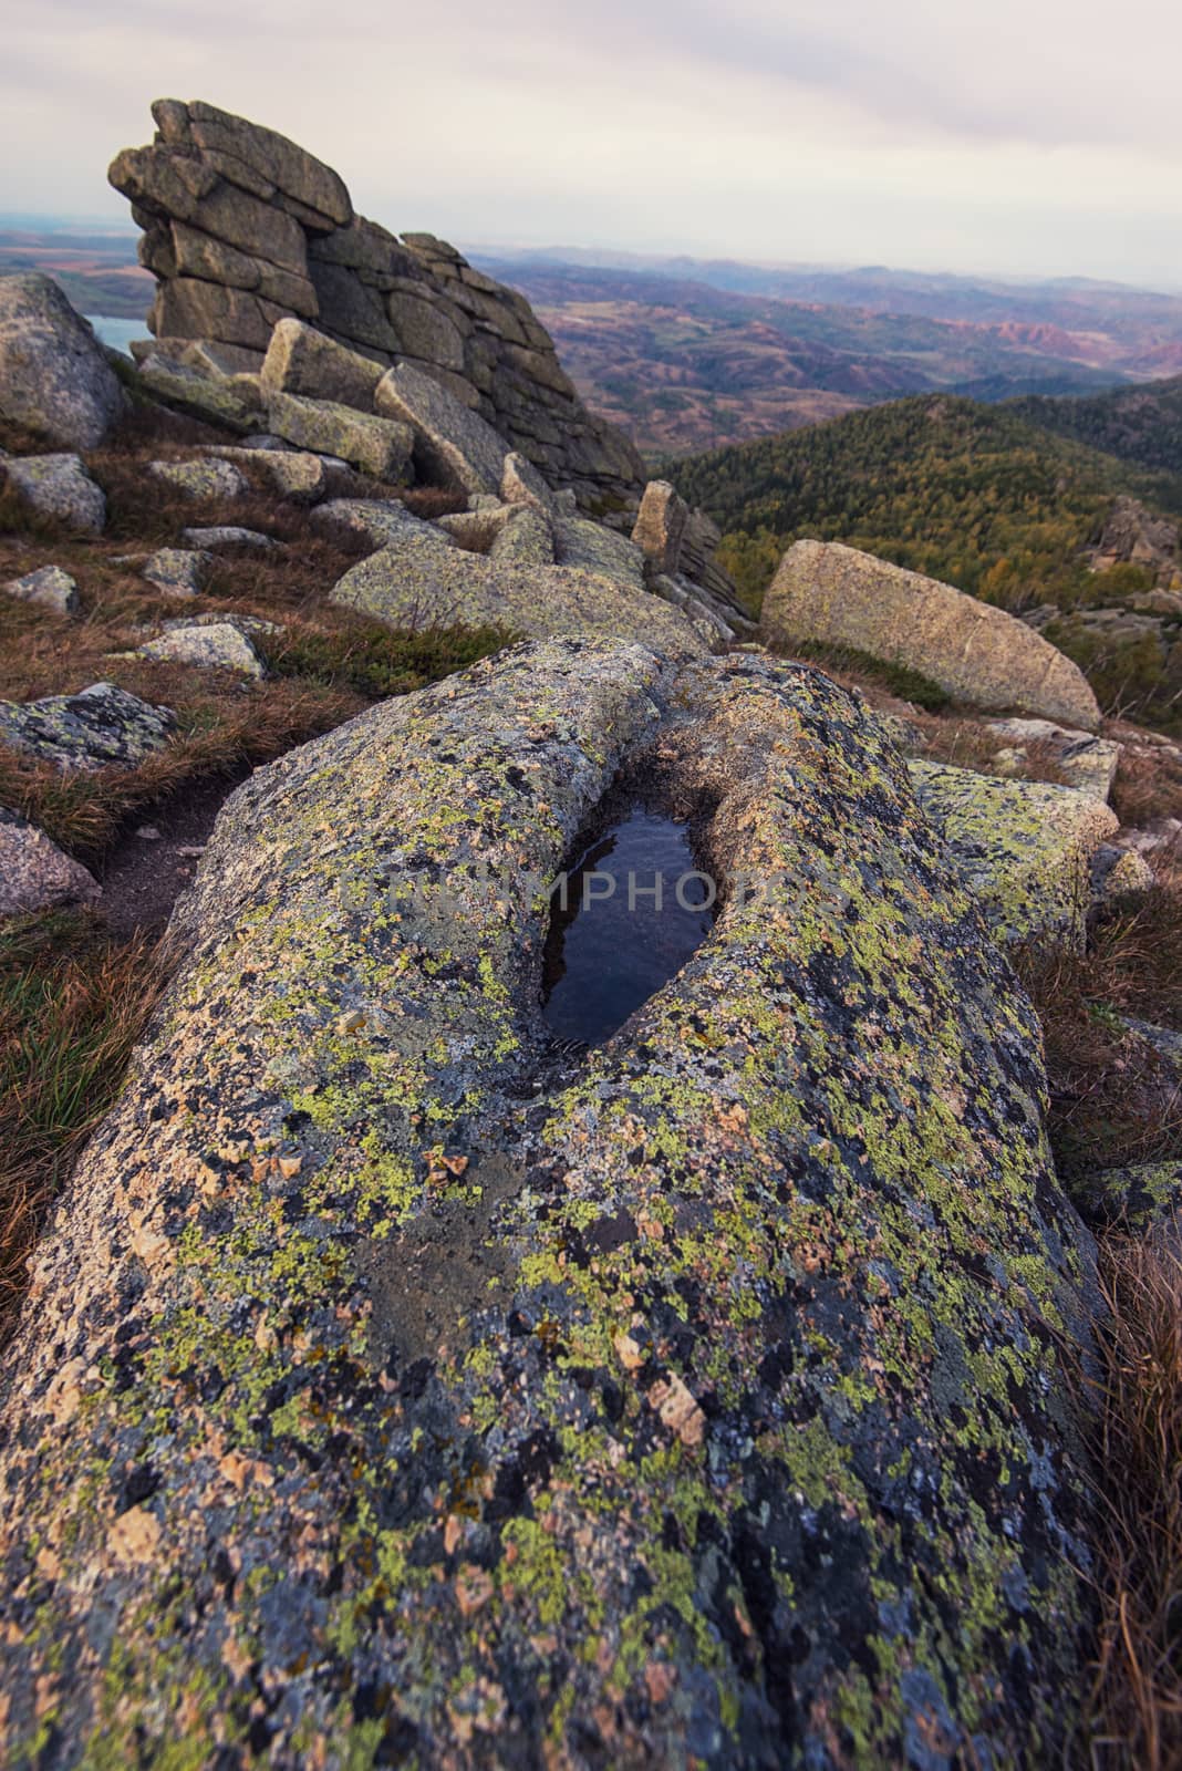
[(1046, 781), (998, 781), (922, 758), (908, 767), (994, 937), (1081, 949), (1092, 855), (1117, 815), (1092, 793)]

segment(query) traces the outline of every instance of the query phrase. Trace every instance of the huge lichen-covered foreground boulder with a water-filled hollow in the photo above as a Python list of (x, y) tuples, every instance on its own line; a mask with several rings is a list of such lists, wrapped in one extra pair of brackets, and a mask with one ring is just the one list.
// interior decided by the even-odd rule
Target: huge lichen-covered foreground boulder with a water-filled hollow
[[(563, 1079), (545, 886), (630, 753), (733, 891)], [(258, 770), (172, 937), (5, 1355), (7, 1762), (1056, 1760), (1090, 1241), (856, 703), (503, 653)]]

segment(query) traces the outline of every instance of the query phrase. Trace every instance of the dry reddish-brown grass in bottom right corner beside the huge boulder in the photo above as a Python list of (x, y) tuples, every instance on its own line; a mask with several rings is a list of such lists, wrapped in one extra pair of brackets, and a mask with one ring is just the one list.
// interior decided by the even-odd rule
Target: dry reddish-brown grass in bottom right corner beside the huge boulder
[(1182, 1764), (1182, 1224), (1108, 1236), (1095, 1392), (1095, 1771)]

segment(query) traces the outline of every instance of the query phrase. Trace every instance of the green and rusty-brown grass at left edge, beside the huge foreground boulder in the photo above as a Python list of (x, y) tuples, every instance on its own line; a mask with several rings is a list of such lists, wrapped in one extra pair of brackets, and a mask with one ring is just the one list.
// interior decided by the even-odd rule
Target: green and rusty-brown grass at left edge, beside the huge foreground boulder
[(37, 1234), (165, 981), (159, 947), (113, 940), (90, 912), (0, 924), (0, 1342)]

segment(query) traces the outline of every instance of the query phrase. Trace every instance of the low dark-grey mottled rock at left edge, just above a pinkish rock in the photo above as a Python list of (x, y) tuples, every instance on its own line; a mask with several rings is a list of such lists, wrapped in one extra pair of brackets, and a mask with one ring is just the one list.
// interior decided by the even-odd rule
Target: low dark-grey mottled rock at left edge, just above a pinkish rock
[(175, 715), (140, 696), (96, 682), (78, 694), (0, 701), (0, 744), (60, 769), (134, 769), (168, 744)]

